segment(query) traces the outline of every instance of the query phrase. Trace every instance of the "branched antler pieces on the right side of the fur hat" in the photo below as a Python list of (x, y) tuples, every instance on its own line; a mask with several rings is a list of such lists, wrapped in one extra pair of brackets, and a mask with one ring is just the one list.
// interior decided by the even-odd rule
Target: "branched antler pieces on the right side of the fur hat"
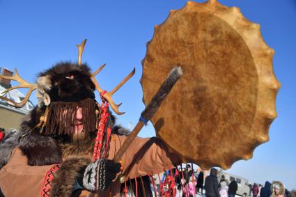
[[(95, 79), (95, 75), (98, 74), (105, 66), (106, 64), (103, 64), (100, 66), (100, 68), (98, 70), (96, 70), (95, 72), (93, 72), (93, 74), (91, 74), (91, 79), (93, 80), (93, 84), (95, 84), (95, 88), (98, 90), (99, 93), (102, 93), (102, 89), (100, 88), (100, 85), (98, 84), (97, 79)], [(122, 115), (125, 112), (120, 112), (118, 110), (118, 107), (120, 107), (120, 104), (115, 104), (115, 102), (112, 100), (112, 95), (121, 87), (123, 86), (123, 84), (125, 84), (126, 81), (128, 81), (128, 79), (130, 79), (133, 75), (134, 72), (136, 72), (135, 68), (132, 70), (132, 72), (130, 72), (130, 74), (127, 75), (127, 77), (125, 77), (125, 79), (123, 79), (123, 81), (121, 81), (113, 90), (111, 90), (108, 93), (105, 93), (103, 95), (103, 97), (109, 102), (111, 108), (113, 109), (113, 111), (115, 111), (115, 113), (117, 113), (118, 115)]]

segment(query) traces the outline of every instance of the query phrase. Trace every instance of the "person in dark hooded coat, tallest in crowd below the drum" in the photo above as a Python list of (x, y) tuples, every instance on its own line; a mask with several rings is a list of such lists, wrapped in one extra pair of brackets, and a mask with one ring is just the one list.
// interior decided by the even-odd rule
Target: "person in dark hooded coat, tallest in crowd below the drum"
[(205, 196), (219, 197), (217, 169), (211, 168), (210, 175), (205, 178)]

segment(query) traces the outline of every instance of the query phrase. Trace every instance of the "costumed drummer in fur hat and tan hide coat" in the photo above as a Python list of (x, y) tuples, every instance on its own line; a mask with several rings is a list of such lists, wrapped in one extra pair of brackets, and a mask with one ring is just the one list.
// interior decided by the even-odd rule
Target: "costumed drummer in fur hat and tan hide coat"
[(112, 161), (129, 132), (115, 125), (103, 97), (95, 100), (86, 64), (57, 63), (37, 86), (38, 107), (0, 145), (4, 196), (120, 196), (119, 172), (128, 181), (181, 163), (160, 139), (139, 137), (120, 164)]

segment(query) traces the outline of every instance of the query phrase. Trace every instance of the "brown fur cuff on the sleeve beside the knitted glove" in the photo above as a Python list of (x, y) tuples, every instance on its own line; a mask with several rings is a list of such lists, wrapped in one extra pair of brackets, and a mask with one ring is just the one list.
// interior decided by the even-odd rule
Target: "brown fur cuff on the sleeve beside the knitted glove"
[(76, 178), (90, 163), (91, 159), (87, 157), (69, 157), (63, 161), (50, 184), (50, 195), (54, 197), (71, 196)]

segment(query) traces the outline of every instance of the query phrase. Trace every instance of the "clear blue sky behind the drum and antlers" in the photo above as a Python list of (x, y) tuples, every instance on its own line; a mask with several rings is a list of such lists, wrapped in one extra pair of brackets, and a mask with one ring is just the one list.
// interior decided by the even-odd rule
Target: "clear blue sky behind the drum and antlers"
[[(34, 81), (38, 72), (57, 61), (77, 61), (75, 45), (88, 38), (83, 61), (93, 70), (107, 63), (98, 75), (104, 89), (111, 90), (136, 68), (134, 77), (114, 95), (116, 102), (123, 102), (120, 110), (126, 112), (118, 123), (132, 127), (144, 108), (139, 79), (146, 42), (169, 10), (182, 8), (185, 2), (0, 0), (0, 67), (16, 67), (24, 79)], [(280, 180), (288, 189), (296, 189), (296, 1), (220, 2), (239, 7), (247, 19), (261, 25), (265, 42), (276, 52), (274, 72), (282, 85), (270, 141), (256, 148), (253, 159), (238, 161), (229, 171), (252, 182)], [(36, 102), (33, 97), (32, 101)], [(140, 135), (154, 136), (155, 132), (149, 125)]]

